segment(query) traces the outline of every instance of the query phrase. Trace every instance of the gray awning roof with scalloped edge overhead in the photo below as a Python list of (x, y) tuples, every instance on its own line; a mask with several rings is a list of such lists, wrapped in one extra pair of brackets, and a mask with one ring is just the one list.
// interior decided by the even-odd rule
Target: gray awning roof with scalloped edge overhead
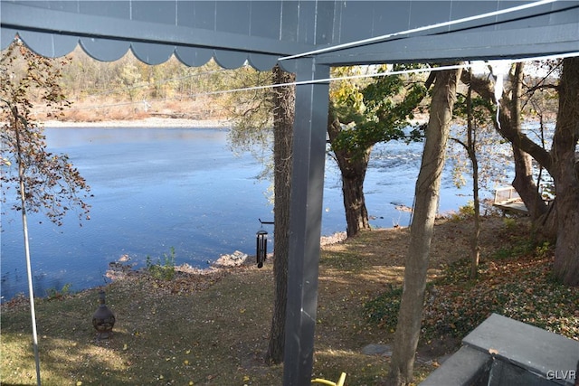
[(175, 54), (189, 66), (213, 57), (224, 68), (247, 61), (264, 71), (280, 57), (344, 44), (352, 46), (316, 54), (318, 63), (579, 51), (577, 1), (2, 0), (0, 14), (2, 49), (18, 33), (44, 56), (62, 56), (80, 44), (100, 61), (130, 49), (148, 64)]

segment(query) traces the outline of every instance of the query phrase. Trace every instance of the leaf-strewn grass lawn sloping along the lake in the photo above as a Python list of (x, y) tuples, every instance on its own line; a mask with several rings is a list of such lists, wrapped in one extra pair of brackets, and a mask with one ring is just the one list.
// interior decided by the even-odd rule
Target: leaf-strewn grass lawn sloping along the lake
[[(579, 288), (550, 276), (553, 250), (525, 239), (525, 220), (482, 223), (479, 278), (469, 272), (470, 221), (438, 221), (432, 245), (416, 382), (491, 312), (579, 340)], [(388, 358), (367, 344), (393, 341), (407, 229), (365, 231), (323, 247), (313, 377), (374, 385)], [(467, 259), (467, 260), (465, 260)], [(128, 274), (104, 287), (117, 323), (96, 343), (91, 325), (100, 288), (36, 301), (44, 385), (278, 385), (282, 365), (263, 362), (273, 304), (271, 260), (171, 280)], [(2, 306), (0, 382), (35, 384), (27, 301)]]

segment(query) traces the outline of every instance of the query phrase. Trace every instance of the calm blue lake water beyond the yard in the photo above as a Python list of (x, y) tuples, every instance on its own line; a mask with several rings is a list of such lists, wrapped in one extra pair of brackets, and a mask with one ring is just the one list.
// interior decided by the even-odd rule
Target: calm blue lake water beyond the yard
[[(272, 221), (269, 181), (252, 155), (233, 155), (227, 132), (212, 128), (48, 128), (48, 146), (70, 155), (94, 197), (90, 221), (69, 213), (58, 227), (30, 215), (34, 293), (81, 290), (104, 284), (109, 262), (128, 255), (143, 266), (175, 249), (176, 263), (206, 268), (208, 261), (241, 250), (254, 254), (258, 219)], [(407, 226), (422, 144), (377, 146), (365, 179), (366, 206), (378, 228)], [(470, 200), (447, 171), (440, 212)], [(4, 210), (10, 207), (5, 204)], [(6, 211), (5, 211), (6, 212)], [(2, 216), (1, 296), (27, 294), (19, 213)], [(42, 221), (42, 223), (40, 223)], [(264, 228), (270, 233), (272, 226)], [(327, 158), (322, 234), (346, 230), (337, 165)], [(271, 240), (270, 240), (271, 242)], [(272, 250), (270, 247), (269, 250)]]

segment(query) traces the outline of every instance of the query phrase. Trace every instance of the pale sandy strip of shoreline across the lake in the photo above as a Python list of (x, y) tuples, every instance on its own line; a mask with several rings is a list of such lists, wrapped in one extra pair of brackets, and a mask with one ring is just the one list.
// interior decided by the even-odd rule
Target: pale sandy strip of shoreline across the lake
[(231, 127), (225, 119), (143, 118), (127, 120), (101, 120), (93, 122), (39, 120), (46, 128), (220, 128)]

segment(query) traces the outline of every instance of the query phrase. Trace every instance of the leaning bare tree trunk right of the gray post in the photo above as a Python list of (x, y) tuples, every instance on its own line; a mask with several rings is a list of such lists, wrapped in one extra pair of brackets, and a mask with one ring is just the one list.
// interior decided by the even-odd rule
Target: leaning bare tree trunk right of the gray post
[(394, 336), (394, 353), (387, 382), (409, 384), (413, 380), (414, 353), (422, 323), (422, 306), (426, 288), (426, 270), (432, 241), (432, 230), (439, 201), (441, 174), (449, 137), (452, 108), (460, 69), (440, 71), (432, 89), (430, 118), (422, 165), (416, 182), (416, 204), (410, 231), (404, 271), (402, 303)]

